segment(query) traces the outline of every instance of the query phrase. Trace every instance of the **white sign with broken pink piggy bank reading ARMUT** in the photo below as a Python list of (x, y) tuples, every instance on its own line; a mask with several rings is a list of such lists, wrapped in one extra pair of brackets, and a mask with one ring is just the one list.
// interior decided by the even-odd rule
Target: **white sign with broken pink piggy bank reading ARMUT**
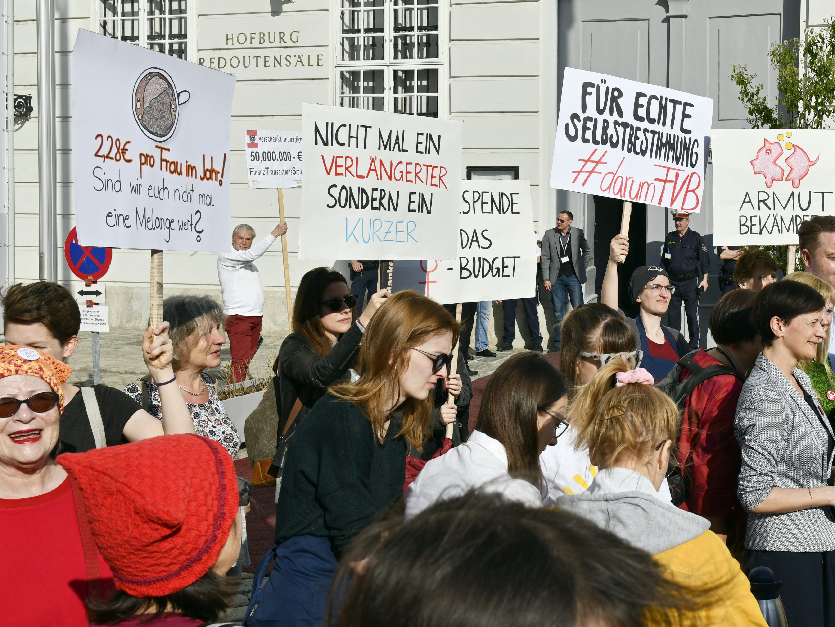
[(801, 222), (835, 212), (835, 130), (713, 130), (711, 148), (717, 246), (797, 244)]

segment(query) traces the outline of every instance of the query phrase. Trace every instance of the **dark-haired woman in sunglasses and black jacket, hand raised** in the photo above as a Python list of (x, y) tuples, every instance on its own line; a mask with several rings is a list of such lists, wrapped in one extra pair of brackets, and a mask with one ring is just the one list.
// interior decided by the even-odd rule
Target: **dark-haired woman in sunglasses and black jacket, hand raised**
[[(357, 295), (350, 293), (342, 273), (313, 268), (301, 278), (293, 305), (293, 332), (281, 343), (273, 366), (280, 395), (280, 440), (282, 434), (289, 438), (325, 390), (357, 363), (362, 335), (386, 297), (385, 289), (374, 293), (355, 322), (352, 308)], [(281, 447), (274, 461), (279, 468), (284, 455)]]

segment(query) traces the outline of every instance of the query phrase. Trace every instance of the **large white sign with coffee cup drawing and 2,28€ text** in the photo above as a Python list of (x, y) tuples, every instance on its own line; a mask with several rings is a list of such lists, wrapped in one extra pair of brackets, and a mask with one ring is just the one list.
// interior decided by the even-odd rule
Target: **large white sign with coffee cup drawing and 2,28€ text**
[(72, 61), (78, 243), (227, 252), (235, 78), (86, 30)]

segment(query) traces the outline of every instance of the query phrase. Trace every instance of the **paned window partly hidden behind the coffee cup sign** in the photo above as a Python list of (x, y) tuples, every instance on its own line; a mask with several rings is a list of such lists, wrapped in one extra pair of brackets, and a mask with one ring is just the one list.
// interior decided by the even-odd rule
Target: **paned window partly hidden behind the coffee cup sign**
[(187, 0), (100, 0), (103, 35), (186, 59)]

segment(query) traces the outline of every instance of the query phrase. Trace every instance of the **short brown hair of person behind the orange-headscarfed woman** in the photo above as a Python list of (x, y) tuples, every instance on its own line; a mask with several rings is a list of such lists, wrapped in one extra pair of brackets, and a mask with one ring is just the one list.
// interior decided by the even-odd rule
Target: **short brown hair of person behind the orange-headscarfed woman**
[(3, 295), (3, 324), (43, 324), (62, 345), (78, 335), (81, 312), (63, 285), (38, 281), (15, 283)]

